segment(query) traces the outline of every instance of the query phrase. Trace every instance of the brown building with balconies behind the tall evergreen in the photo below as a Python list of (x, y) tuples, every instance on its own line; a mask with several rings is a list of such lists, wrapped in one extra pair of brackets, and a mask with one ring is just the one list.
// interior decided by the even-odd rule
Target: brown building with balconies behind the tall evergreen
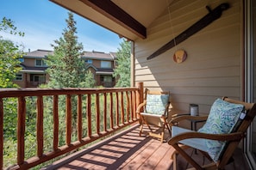
[[(49, 54), (53, 54), (53, 51), (27, 52), (20, 58), (22, 70), (16, 74), (14, 82), (21, 88), (37, 88), (40, 84), (47, 83), (49, 75), (44, 59)], [(81, 58), (84, 59), (84, 67), (91, 70), (96, 86), (112, 88), (116, 85), (116, 79), (113, 77), (116, 52), (84, 52)]]

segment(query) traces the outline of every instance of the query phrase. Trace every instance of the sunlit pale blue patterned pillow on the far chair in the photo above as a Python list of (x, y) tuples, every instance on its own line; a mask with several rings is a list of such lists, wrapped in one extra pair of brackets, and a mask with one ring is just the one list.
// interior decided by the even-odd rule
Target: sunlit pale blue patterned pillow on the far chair
[(147, 106), (145, 112), (162, 115), (165, 113), (165, 106), (168, 105), (169, 94), (147, 94)]

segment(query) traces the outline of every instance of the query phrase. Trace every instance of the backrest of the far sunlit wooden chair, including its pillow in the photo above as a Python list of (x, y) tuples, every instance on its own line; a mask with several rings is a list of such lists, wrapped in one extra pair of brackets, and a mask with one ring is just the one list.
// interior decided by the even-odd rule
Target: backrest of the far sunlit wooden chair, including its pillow
[(170, 92), (150, 91), (146, 88), (144, 112), (163, 115), (168, 112), (170, 106)]

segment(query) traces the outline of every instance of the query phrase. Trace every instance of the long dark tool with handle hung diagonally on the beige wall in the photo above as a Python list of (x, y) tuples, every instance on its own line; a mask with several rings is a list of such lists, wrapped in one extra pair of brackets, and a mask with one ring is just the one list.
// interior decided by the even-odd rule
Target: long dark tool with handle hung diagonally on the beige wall
[(162, 46), (159, 48), (159, 50), (157, 50), (156, 52), (153, 52), (153, 54), (147, 57), (147, 60), (159, 56), (161, 53), (164, 53), (167, 50), (170, 50), (173, 46), (177, 46), (179, 43), (181, 43), (185, 39), (188, 39), (194, 33), (197, 33), (198, 31), (203, 29), (203, 27), (208, 26), (211, 22), (220, 18), (222, 16), (222, 11), (229, 8), (229, 4), (222, 3), (213, 10), (209, 9), (209, 6), (206, 6), (206, 8), (209, 10), (208, 15), (203, 16), (201, 20), (197, 21), (191, 27), (184, 30), (183, 33), (180, 33), (177, 37), (175, 37), (174, 39), (166, 43), (165, 46)]

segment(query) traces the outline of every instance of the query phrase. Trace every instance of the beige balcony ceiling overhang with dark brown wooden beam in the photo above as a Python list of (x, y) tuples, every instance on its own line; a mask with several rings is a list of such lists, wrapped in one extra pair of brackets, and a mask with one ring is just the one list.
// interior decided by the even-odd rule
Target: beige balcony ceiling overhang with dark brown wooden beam
[(147, 38), (147, 27), (172, 0), (50, 0), (127, 39)]

